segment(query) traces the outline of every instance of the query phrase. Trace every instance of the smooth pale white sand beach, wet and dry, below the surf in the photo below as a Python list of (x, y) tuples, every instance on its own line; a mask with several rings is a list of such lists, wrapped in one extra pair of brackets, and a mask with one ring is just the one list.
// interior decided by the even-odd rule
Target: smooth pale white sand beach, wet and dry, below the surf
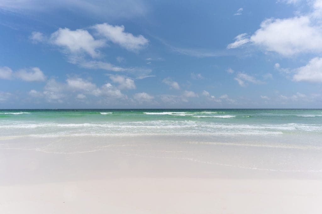
[(0, 149), (0, 213), (322, 213), (321, 172), (243, 167), (309, 168), (319, 152), (127, 145), (70, 154)]

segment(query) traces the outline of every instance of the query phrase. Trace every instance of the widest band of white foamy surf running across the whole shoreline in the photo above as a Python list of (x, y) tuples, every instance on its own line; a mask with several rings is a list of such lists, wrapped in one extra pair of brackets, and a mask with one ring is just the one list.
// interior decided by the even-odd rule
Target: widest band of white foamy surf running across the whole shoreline
[[(211, 117), (211, 116), (207, 116)], [(157, 131), (163, 130), (165, 132), (179, 132), (191, 131), (191, 132), (215, 132), (215, 131), (246, 131), (258, 130), (258, 131), (322, 131), (321, 124), (223, 124), (223, 123), (210, 123), (209, 121), (175, 121), (175, 120), (153, 120), (153, 121), (132, 121), (132, 122), (109, 122), (109, 123), (5, 123), (0, 124), (1, 128), (19, 128), (19, 129), (33, 129), (43, 127), (69, 127), (80, 128), (81, 127), (102, 127), (109, 128), (109, 131), (116, 132), (140, 132), (140, 131)], [(106, 131), (106, 129), (95, 129), (100, 131)], [(54, 131), (54, 130), (53, 130)], [(57, 130), (58, 131), (58, 130)]]

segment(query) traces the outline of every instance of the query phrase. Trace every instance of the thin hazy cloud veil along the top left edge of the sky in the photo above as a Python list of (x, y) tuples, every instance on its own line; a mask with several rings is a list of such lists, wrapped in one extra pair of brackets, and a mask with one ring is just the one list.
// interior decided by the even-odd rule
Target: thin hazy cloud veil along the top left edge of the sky
[(132, 18), (147, 13), (148, 7), (142, 0), (1, 0), (0, 9), (14, 13), (31, 14), (50, 13), (59, 9), (79, 13), (91, 18)]

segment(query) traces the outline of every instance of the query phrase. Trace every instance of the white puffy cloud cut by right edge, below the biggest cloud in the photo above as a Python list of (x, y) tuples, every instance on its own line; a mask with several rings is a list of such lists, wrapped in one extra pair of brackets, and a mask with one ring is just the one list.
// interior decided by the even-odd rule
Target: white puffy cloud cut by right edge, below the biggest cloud
[(322, 57), (315, 57), (307, 65), (297, 68), (293, 80), (322, 82)]

